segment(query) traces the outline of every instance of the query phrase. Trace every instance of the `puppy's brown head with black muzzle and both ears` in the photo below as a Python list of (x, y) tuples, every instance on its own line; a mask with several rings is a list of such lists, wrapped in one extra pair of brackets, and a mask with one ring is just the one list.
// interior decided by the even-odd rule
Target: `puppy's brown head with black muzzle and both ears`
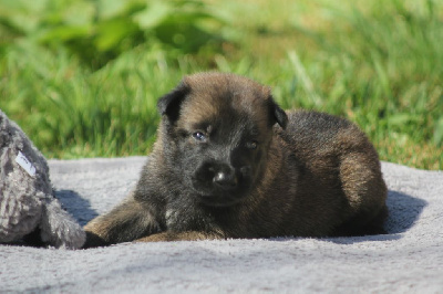
[(206, 206), (249, 195), (264, 175), (272, 126), (288, 122), (268, 87), (233, 74), (186, 76), (157, 106), (165, 158)]

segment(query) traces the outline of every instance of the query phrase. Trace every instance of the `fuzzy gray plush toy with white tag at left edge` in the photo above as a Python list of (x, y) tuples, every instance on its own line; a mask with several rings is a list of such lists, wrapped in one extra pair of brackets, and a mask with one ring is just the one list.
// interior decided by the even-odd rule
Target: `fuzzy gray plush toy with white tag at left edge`
[(0, 243), (19, 241), (34, 230), (56, 248), (80, 248), (85, 240), (52, 195), (47, 160), (0, 111)]

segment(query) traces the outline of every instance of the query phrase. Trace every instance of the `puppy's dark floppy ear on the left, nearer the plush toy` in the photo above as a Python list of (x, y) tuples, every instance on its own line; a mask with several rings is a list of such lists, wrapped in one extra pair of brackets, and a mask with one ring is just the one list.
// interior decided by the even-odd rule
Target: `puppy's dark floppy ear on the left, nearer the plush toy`
[(159, 114), (166, 115), (169, 120), (175, 122), (178, 118), (179, 106), (190, 88), (184, 83), (179, 83), (172, 92), (161, 97), (157, 102)]

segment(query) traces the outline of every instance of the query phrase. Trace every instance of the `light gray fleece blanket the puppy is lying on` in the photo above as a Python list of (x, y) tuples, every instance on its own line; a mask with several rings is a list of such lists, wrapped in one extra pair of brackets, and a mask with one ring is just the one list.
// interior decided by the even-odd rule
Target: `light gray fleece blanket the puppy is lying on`
[[(49, 160), (82, 223), (134, 187), (144, 157)], [(382, 164), (389, 234), (124, 243), (90, 250), (0, 245), (0, 293), (443, 293), (443, 172)]]

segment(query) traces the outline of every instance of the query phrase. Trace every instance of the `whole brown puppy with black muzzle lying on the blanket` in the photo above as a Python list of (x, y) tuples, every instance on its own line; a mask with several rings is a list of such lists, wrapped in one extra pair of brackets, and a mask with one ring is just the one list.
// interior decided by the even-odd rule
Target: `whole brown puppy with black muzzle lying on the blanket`
[(222, 73), (186, 76), (158, 109), (134, 192), (86, 224), (85, 246), (383, 231), (379, 158), (353, 124), (287, 115), (268, 87)]

